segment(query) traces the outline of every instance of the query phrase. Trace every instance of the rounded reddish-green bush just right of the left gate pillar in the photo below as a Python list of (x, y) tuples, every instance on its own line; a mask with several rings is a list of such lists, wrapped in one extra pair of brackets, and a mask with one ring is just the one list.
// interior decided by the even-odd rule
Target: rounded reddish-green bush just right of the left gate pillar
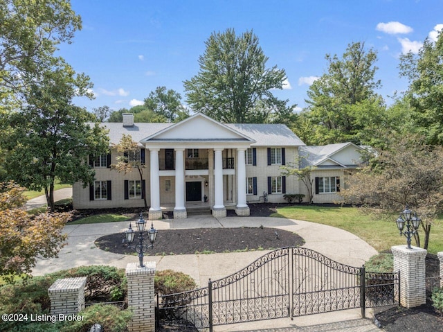
[(157, 271), (154, 277), (154, 289), (161, 295), (185, 292), (196, 287), (194, 279), (188, 274), (174, 270)]

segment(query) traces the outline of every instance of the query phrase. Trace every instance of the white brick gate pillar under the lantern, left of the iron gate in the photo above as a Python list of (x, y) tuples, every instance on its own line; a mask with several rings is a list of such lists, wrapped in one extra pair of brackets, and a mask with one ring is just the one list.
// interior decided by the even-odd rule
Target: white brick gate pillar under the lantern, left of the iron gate
[(129, 332), (155, 331), (154, 275), (155, 262), (145, 262), (144, 268), (138, 263), (126, 267), (128, 306), (134, 312), (129, 322)]

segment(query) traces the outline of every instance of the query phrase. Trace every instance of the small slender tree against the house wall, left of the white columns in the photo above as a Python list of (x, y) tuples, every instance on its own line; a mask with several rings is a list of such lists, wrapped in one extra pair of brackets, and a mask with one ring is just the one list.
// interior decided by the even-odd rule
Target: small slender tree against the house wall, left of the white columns
[[(117, 164), (112, 164), (111, 168), (118, 172), (124, 172), (125, 174), (131, 172), (136, 168), (138, 175), (140, 175), (140, 192), (141, 197), (147, 207), (145, 186), (143, 186), (143, 170), (145, 169), (145, 162), (141, 158), (141, 147), (138, 146), (136, 141), (132, 140), (131, 135), (123, 134), (118, 144), (114, 144), (113, 148), (117, 150), (120, 155), (117, 157)], [(134, 192), (138, 189), (134, 188)]]

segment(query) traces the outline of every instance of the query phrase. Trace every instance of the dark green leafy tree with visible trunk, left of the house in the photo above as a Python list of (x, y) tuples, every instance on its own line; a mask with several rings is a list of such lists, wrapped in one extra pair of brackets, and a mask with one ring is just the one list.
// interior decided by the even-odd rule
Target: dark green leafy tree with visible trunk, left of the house
[(8, 177), (31, 190), (44, 189), (48, 207), (54, 211), (54, 182), (93, 182), (94, 172), (85, 162), (89, 155), (107, 152), (109, 141), (93, 114), (72, 103), (86, 94), (89, 78), (76, 75), (69, 65), (48, 69), (29, 83), (26, 107), (6, 114), (0, 138), (6, 151)]

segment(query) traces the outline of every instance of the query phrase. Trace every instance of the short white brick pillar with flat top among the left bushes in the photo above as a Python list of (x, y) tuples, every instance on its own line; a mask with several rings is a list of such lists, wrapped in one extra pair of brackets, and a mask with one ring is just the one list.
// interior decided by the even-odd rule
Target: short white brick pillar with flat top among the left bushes
[(84, 308), (86, 277), (58, 279), (48, 289), (51, 315), (73, 315)]

